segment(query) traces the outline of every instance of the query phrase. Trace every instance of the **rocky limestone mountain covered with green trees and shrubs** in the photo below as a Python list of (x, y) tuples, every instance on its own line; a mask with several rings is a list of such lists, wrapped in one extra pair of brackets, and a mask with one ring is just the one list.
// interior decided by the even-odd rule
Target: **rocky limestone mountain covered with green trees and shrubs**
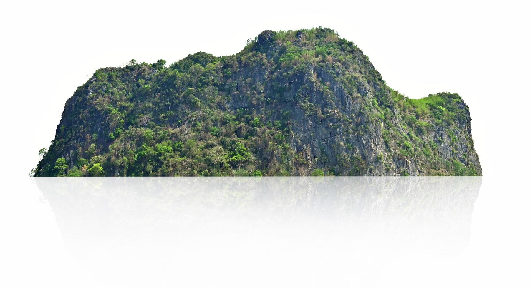
[(482, 175), (458, 94), (410, 99), (328, 28), (236, 55), (108, 67), (70, 97), (35, 176)]

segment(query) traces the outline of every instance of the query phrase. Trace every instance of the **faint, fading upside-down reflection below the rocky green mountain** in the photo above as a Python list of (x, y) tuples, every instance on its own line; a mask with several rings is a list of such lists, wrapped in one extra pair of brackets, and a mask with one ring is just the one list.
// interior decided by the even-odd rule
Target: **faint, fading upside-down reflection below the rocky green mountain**
[[(325, 255), (342, 251), (364, 259), (352, 264), (359, 267), (374, 255), (458, 254), (469, 242), (473, 204), (482, 179), (147, 177), (34, 181), (55, 212), (68, 250), (82, 263), (98, 262), (90, 265), (98, 274), (110, 273), (104, 267), (131, 263), (138, 272), (145, 272), (146, 265), (162, 269), (175, 261), (193, 262), (197, 255), (215, 257), (221, 250), (229, 251), (232, 259), (265, 251), (253, 258), (256, 260), (280, 251), (281, 255), (294, 253), (292, 257), (300, 249)], [(361, 270), (356, 273), (362, 274)]]

